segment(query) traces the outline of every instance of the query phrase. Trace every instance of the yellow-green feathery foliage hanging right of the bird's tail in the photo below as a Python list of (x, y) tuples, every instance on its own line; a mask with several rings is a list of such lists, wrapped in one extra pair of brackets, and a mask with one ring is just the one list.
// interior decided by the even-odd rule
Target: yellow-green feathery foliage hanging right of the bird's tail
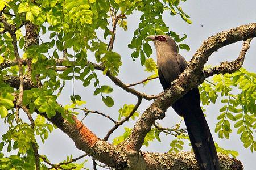
[[(234, 94), (232, 88), (237, 88)], [(200, 86), (200, 95), (203, 105), (215, 103), (218, 94), (221, 95), (222, 107), (217, 119), (215, 132), (220, 138), (229, 139), (232, 133), (230, 122), (237, 128), (241, 142), (251, 152), (256, 151), (256, 141), (253, 133), (256, 129), (256, 75), (245, 69), (232, 74), (215, 75), (212, 81), (204, 82)]]

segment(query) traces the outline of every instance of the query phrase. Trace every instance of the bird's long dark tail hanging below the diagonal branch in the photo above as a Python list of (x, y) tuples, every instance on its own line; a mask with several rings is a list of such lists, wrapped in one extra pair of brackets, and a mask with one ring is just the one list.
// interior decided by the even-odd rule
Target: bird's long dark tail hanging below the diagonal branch
[(172, 108), (184, 117), (189, 139), (201, 170), (220, 170), (220, 163), (212, 134), (200, 107), (198, 88), (193, 88), (179, 100)]

